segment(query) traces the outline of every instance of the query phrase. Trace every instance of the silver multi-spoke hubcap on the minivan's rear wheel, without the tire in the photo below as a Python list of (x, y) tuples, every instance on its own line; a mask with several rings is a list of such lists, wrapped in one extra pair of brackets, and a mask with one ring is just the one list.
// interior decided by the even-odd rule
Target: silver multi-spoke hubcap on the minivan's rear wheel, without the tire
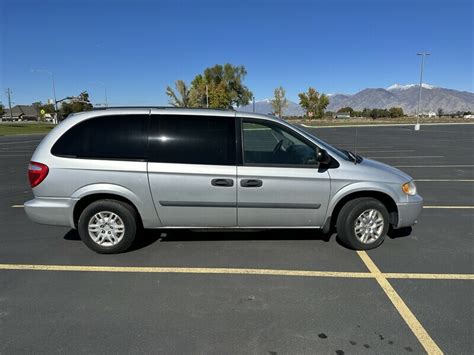
[(103, 247), (117, 245), (125, 234), (122, 218), (109, 211), (101, 211), (92, 216), (88, 229), (94, 243)]

